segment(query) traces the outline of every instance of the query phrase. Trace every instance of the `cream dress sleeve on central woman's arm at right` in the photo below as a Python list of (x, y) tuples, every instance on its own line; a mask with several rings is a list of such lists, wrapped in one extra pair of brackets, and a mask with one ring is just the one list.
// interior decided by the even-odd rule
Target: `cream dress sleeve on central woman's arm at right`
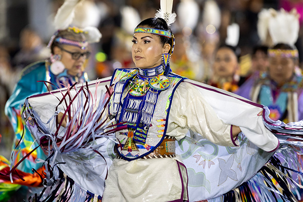
[(195, 86), (182, 82), (173, 96), (167, 135), (181, 139), (189, 128), (216, 144), (234, 146), (231, 125), (218, 118)]

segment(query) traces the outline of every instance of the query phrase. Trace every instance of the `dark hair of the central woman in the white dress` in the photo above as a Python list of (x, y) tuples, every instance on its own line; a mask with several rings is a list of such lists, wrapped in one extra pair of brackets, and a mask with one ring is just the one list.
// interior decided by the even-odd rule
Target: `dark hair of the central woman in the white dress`
[[(154, 29), (161, 29), (161, 30), (165, 30), (165, 31), (169, 31), (172, 33), (171, 29), (169, 28), (169, 26), (167, 25), (166, 21), (163, 18), (147, 18), (143, 21), (141, 21), (137, 27), (147, 27), (147, 28), (154, 28)], [(160, 36), (160, 40), (162, 42), (162, 44), (170, 44), (171, 48), (173, 47), (172, 45), (172, 39), (165, 37), (165, 36)]]

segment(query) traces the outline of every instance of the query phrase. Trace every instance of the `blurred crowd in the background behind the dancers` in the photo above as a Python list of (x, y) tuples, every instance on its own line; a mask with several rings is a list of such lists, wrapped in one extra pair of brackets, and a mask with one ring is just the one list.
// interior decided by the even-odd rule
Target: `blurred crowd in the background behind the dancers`
[[(56, 31), (54, 16), (63, 0), (0, 1), (0, 154), (10, 157), (14, 132), (4, 107), (22, 70), (29, 64), (49, 57), (46, 47)], [(133, 28), (154, 17), (160, 0), (86, 0), (76, 11), (76, 19), (96, 26), (102, 33), (99, 43), (90, 47), (92, 59), (86, 67), (90, 80), (111, 76), (116, 68), (132, 68)], [(214, 53), (227, 37), (227, 26), (239, 25), (239, 76), (245, 77), (256, 62), (253, 49), (260, 44), (258, 14), (264, 8), (303, 14), (301, 0), (175, 0), (177, 22), (171, 27), (176, 46), (171, 67), (177, 74), (208, 82), (212, 76)], [(86, 11), (86, 12), (85, 12)], [(88, 11), (88, 12), (87, 12)], [(302, 16), (302, 15), (301, 15)], [(299, 18), (300, 25), (303, 18)], [(300, 26), (301, 27), (301, 26)], [(302, 30), (296, 47), (302, 67)], [(266, 56), (263, 56), (266, 57)]]

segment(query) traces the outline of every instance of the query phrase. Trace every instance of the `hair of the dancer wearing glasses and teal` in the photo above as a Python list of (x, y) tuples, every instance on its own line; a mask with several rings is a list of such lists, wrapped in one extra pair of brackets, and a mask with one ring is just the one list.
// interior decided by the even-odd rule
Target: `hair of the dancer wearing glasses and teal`
[(59, 30), (58, 33), (56, 34), (56, 37), (54, 38), (54, 41), (53, 41), (52, 45), (51, 45), (52, 54), (54, 54), (54, 47), (55, 46), (60, 46), (60, 43), (55, 41), (59, 37), (70, 39), (70, 40), (76, 40), (76, 41), (86, 40), (84, 34), (81, 33), (81, 32), (76, 33), (76, 32), (74, 32), (73, 30), (70, 30), (70, 29)]

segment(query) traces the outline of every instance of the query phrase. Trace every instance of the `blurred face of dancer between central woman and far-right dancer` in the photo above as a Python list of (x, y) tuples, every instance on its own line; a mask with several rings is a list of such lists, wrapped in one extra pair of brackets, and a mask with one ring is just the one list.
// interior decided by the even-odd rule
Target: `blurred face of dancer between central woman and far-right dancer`
[(219, 77), (233, 76), (238, 68), (237, 57), (228, 47), (221, 47), (213, 65), (214, 74)]

